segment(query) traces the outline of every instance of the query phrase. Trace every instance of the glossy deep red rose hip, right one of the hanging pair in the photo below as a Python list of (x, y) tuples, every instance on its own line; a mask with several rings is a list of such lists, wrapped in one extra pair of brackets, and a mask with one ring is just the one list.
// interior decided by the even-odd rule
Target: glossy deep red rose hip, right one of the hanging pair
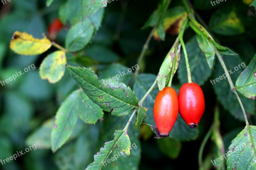
[(180, 116), (190, 128), (195, 128), (204, 114), (203, 90), (196, 83), (185, 83), (180, 87), (178, 100)]

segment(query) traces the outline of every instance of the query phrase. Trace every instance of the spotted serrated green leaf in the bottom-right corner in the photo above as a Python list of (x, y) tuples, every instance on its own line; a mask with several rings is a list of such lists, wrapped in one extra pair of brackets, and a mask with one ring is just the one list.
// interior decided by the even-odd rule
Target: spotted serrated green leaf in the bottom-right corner
[(256, 126), (246, 126), (228, 147), (223, 156), (227, 158), (227, 169), (255, 169)]

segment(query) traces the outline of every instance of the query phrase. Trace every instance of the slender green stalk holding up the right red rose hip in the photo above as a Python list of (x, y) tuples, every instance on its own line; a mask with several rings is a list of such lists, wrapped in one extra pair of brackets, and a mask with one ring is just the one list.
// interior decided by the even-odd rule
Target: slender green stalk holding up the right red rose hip
[(185, 60), (186, 60), (186, 67), (187, 67), (187, 73), (188, 73), (188, 83), (192, 83), (190, 66), (189, 66), (189, 63), (188, 63), (188, 53), (187, 53), (185, 43), (183, 41), (183, 35), (184, 35), (184, 32), (185, 32), (185, 29), (186, 29), (187, 25), (188, 25), (188, 18), (184, 21), (178, 37), (180, 39), (180, 44), (182, 46), (184, 56), (185, 56)]

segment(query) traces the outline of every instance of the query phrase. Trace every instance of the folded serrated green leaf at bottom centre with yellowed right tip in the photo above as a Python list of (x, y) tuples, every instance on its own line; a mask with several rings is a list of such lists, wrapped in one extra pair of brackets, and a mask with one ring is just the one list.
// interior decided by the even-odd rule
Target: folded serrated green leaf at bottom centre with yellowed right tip
[(86, 170), (101, 169), (114, 147), (119, 147), (127, 156), (130, 156), (131, 141), (127, 131), (116, 130), (114, 139), (106, 142), (104, 148), (94, 155), (94, 162), (87, 166)]

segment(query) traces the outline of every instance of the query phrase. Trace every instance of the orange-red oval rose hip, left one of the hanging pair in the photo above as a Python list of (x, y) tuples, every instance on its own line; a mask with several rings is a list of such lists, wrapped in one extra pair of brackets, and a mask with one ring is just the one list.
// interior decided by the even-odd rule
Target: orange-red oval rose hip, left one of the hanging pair
[(159, 91), (154, 104), (154, 119), (161, 136), (169, 136), (179, 111), (178, 95), (171, 87)]

